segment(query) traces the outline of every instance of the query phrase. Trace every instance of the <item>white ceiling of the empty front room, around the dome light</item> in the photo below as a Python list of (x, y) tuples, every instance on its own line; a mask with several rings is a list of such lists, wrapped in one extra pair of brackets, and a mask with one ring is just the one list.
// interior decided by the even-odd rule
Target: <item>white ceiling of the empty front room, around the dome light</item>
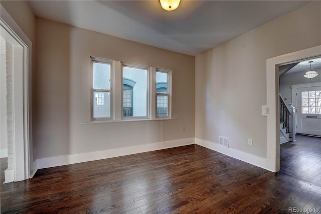
[(196, 56), (311, 1), (29, 1), (35, 15)]

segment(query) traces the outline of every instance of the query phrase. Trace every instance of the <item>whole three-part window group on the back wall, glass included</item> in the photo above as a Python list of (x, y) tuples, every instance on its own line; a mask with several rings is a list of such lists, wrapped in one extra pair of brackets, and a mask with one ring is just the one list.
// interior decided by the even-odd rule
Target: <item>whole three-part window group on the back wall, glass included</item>
[(91, 121), (171, 119), (172, 71), (91, 57)]

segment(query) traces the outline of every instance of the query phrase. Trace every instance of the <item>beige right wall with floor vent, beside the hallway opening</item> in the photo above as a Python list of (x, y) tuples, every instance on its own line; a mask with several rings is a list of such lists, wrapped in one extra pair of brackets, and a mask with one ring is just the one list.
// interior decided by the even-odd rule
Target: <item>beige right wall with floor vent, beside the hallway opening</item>
[(196, 138), (226, 136), (231, 148), (266, 158), (266, 59), (320, 45), (320, 9), (310, 3), (196, 57)]

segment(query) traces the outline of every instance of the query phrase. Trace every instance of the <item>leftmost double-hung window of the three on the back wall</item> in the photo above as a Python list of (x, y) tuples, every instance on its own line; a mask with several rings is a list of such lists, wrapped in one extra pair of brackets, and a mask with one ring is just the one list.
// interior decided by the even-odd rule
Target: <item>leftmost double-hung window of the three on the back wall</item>
[(108, 60), (91, 58), (92, 66), (92, 120), (111, 118), (111, 66)]

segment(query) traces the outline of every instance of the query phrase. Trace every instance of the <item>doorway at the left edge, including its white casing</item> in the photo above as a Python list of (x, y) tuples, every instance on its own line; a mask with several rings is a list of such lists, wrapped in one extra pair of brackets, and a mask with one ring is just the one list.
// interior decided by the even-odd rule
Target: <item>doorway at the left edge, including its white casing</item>
[(3, 18), (0, 24), (1, 48), (5, 52), (1, 55), (4, 65), (2, 63), (0, 88), (5, 96), (1, 96), (0, 112), (4, 123), (0, 134), (1, 140), (5, 141), (1, 144), (7, 144), (8, 166), (5, 166), (4, 182), (8, 183), (30, 178), (29, 47)]

